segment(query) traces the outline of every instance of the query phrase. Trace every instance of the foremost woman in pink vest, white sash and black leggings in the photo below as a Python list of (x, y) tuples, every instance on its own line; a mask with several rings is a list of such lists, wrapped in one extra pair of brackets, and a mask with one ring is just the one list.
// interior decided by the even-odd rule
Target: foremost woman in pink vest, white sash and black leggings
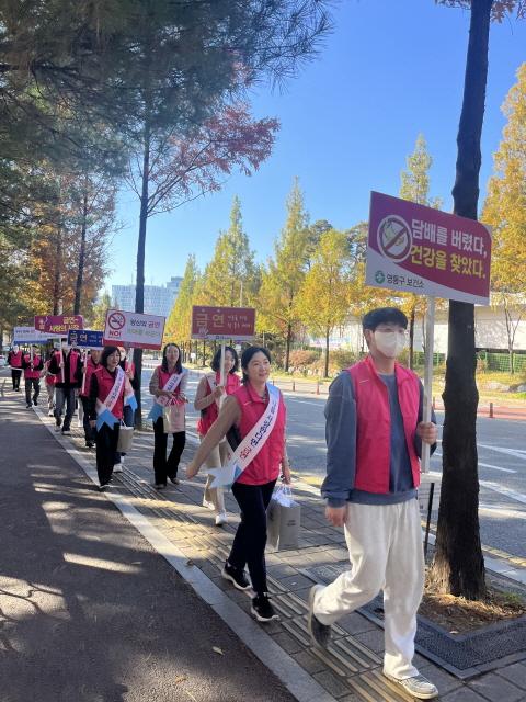
[[(232, 495), (241, 510), (241, 522), (222, 576), (238, 590), (248, 590), (251, 587), (244, 574), (248, 565), (255, 593), (251, 612), (259, 622), (270, 622), (277, 615), (270, 602), (266, 585), (266, 508), (279, 467), (283, 480), (290, 483), (285, 446), (286, 410), (282, 393), (267, 383), (271, 354), (266, 349), (245, 349), (241, 369), (242, 386), (226, 398), (217, 420), (188, 464), (186, 476), (191, 479), (197, 474), (227, 432), (231, 445), (239, 441), (227, 466), (221, 469), (225, 479), (233, 483)], [(235, 439), (232, 434), (238, 435)]]

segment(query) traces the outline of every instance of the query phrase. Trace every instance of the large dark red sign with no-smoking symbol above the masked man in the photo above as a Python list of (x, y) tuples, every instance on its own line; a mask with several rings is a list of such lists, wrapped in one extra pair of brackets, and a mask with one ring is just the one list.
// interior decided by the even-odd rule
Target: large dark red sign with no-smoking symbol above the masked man
[(367, 285), (488, 304), (490, 272), (491, 231), (485, 225), (370, 194)]

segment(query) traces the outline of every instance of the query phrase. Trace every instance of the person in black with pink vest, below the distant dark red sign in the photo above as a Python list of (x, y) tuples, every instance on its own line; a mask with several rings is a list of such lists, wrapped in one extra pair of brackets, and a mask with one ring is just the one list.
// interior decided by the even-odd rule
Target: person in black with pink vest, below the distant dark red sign
[[(71, 418), (75, 412), (75, 390), (80, 387), (82, 380), (82, 361), (77, 349), (72, 349), (64, 342), (61, 349), (56, 351), (49, 362), (49, 373), (55, 375), (55, 430), (62, 434), (70, 434)], [(66, 405), (66, 415), (62, 426), (62, 411)]]

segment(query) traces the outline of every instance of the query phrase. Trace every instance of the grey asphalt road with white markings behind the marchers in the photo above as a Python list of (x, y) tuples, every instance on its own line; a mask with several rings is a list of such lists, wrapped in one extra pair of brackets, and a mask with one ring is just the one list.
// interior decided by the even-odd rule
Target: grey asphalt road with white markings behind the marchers
[[(142, 397), (149, 408), (148, 383), (151, 371), (145, 370)], [(199, 380), (191, 374), (188, 394), (194, 396)], [(285, 392), (287, 437), (293, 467), (305, 477), (320, 478), (325, 471), (324, 397)], [(197, 412), (188, 405), (188, 433), (195, 432)], [(443, 414), (437, 412), (439, 437)], [(514, 556), (526, 557), (526, 421), (478, 419), (480, 526), (482, 542)], [(442, 471), (441, 446), (431, 463)], [(435, 514), (436, 517), (436, 514)]]

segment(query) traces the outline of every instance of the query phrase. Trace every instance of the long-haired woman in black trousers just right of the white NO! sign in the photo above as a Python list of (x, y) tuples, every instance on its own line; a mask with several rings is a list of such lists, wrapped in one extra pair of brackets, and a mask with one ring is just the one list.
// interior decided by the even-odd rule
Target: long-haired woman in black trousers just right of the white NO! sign
[[(168, 478), (179, 485), (179, 462), (186, 443), (185, 410), (188, 372), (181, 363), (181, 349), (168, 343), (162, 351), (162, 363), (153, 371), (150, 393), (155, 396), (148, 419), (153, 421), (153, 473), (155, 487), (162, 490)], [(167, 461), (168, 434), (173, 444)]]

